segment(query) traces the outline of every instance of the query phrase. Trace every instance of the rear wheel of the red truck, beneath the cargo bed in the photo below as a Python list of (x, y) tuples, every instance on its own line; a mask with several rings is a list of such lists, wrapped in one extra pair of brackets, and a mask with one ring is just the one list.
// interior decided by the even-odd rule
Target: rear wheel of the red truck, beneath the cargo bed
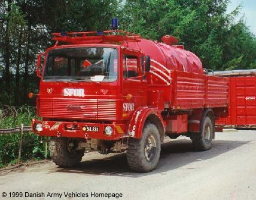
[(195, 151), (206, 151), (211, 149), (212, 136), (214, 134), (213, 130), (214, 128), (211, 118), (205, 117), (200, 133), (194, 133), (191, 135), (193, 148)]

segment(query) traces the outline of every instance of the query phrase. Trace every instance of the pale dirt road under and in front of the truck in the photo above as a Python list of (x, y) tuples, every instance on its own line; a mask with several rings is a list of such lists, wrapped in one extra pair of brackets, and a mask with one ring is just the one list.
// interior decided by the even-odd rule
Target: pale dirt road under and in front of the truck
[(76, 168), (23, 166), (0, 176), (0, 199), (256, 199), (255, 141), (252, 130), (216, 133), (210, 151), (193, 152), (189, 139), (171, 140), (146, 174), (130, 171), (125, 154), (96, 152)]

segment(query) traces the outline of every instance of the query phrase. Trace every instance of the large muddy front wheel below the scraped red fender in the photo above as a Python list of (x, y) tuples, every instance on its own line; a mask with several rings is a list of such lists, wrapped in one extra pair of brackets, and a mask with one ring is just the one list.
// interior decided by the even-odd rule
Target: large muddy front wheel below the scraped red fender
[(144, 126), (141, 139), (129, 139), (126, 153), (128, 164), (134, 171), (152, 171), (157, 167), (160, 151), (159, 130), (154, 124), (147, 124)]

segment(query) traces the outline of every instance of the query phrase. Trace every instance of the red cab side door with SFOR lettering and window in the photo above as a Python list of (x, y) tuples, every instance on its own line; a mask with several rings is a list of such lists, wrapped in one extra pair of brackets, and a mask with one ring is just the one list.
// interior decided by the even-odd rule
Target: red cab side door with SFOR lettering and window
[(147, 105), (147, 80), (144, 77), (143, 57), (131, 53), (123, 54), (123, 118), (128, 119), (141, 106)]

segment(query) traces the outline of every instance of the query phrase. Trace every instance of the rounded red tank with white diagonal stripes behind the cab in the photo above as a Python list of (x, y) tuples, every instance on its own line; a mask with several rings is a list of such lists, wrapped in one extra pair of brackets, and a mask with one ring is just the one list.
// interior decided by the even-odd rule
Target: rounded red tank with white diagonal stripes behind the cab
[(151, 85), (170, 85), (170, 70), (203, 74), (200, 59), (192, 52), (181, 48), (181, 46), (167, 45), (166, 43), (141, 38), (138, 41), (126, 42), (123, 45), (131, 49), (144, 51), (145, 55), (150, 56), (151, 68), (147, 79)]

